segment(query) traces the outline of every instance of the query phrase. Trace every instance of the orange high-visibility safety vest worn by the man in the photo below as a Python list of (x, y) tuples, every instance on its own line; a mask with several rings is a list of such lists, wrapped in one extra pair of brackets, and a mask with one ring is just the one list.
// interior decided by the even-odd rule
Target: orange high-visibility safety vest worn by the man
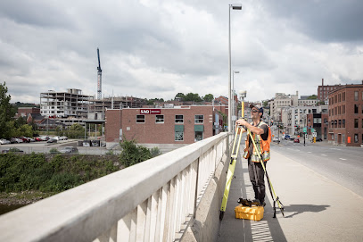
[[(253, 122), (251, 124), (253, 125)], [(260, 121), (260, 123), (257, 127), (260, 128), (263, 124), (268, 125), (266, 122)], [(259, 157), (259, 154), (260, 154), (262, 160), (264, 162), (267, 162), (270, 159), (269, 145), (271, 144), (271, 129), (269, 129), (269, 127), (268, 127), (268, 139), (267, 140), (263, 140), (260, 135), (256, 135), (256, 134), (252, 134), (252, 137), (253, 137), (254, 142), (256, 143), (258, 150), (256, 150), (255, 147), (253, 147), (253, 152), (252, 152), (252, 154), (250, 154), (250, 138), (251, 137), (249, 135), (247, 135), (243, 158), (248, 159), (251, 155), (252, 162), (260, 163), (260, 157)], [(252, 146), (253, 146), (253, 144), (252, 144)]]

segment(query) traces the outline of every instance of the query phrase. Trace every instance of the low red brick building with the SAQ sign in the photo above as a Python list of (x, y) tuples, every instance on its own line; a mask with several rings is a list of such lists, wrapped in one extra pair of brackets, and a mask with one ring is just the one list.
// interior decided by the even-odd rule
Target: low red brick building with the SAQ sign
[(222, 115), (210, 105), (106, 110), (107, 146), (122, 138), (134, 138), (139, 144), (187, 145), (210, 138), (221, 129)]

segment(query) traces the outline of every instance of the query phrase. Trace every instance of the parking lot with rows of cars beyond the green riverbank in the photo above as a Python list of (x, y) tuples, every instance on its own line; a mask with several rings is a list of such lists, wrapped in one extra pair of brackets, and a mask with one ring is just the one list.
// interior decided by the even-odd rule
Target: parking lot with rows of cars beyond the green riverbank
[[(78, 148), (78, 154), (109, 154), (110, 151), (103, 146), (78, 146), (78, 141), (82, 141), (79, 139), (68, 139), (68, 140), (59, 140), (57, 143), (46, 143), (46, 141), (37, 141), (30, 143), (20, 143), (20, 144), (7, 144), (0, 146), (0, 152), (3, 153), (3, 150), (16, 147), (22, 150), (25, 154), (31, 153), (44, 153), (50, 154), (51, 149), (55, 148), (58, 151), (64, 149), (65, 146), (73, 146)], [(120, 154), (120, 150), (113, 150), (113, 154)]]

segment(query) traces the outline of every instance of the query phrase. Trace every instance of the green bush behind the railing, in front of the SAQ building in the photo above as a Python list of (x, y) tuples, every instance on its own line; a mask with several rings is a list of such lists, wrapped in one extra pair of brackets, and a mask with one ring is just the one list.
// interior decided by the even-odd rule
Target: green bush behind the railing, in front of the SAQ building
[(142, 163), (152, 158), (150, 150), (144, 146), (138, 146), (135, 139), (127, 140), (124, 138), (124, 141), (120, 142), (120, 146), (122, 148), (120, 162), (125, 167)]

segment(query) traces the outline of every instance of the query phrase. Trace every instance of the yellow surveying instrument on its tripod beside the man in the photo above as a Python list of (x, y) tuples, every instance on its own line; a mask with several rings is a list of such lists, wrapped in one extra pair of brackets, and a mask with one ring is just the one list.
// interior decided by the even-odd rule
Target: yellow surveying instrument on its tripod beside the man
[[(245, 97), (245, 91), (240, 92), (240, 94), (241, 94), (241, 99), (242, 99), (241, 116), (244, 119), (244, 102), (243, 102), (243, 98)], [(228, 124), (228, 125), (231, 125), (231, 124)], [(244, 129), (247, 129), (247, 128), (244, 128)], [(222, 204), (220, 206), (220, 211), (219, 211), (219, 221), (223, 220), (224, 213), (226, 212), (229, 189), (231, 188), (232, 179), (235, 178), (235, 176), (234, 176), (235, 163), (237, 162), (237, 157), (238, 157), (239, 149), (240, 149), (240, 146), (241, 146), (242, 135), (243, 135), (243, 127), (242, 126), (237, 126), (236, 130), (235, 130), (234, 143), (233, 143), (232, 151), (231, 151), (230, 163), (229, 163), (228, 171), (227, 171), (226, 188), (225, 188), (225, 191), (224, 191), (224, 194), (223, 194), (223, 200), (222, 200)], [(265, 172), (266, 179), (268, 179), (268, 188), (269, 188), (271, 197), (272, 197), (272, 199), (274, 201), (274, 206), (273, 206), (274, 207), (274, 218), (276, 218), (276, 202), (278, 204), (278, 207), (280, 208), (281, 213), (285, 217), (284, 205), (279, 201), (278, 196), (276, 196), (276, 193), (275, 193), (275, 190), (274, 190), (274, 188), (272, 186), (271, 180), (268, 178), (268, 171), (266, 170), (265, 164), (262, 162), (263, 160), (261, 158), (261, 150), (260, 150), (259, 146), (256, 145), (256, 142), (252, 137), (252, 133), (251, 133), (250, 129), (247, 129), (247, 135), (250, 136), (254, 149), (256, 151), (258, 151), (257, 153), (259, 155), (260, 163), (261, 163), (262, 168), (263, 168), (263, 170)], [(238, 200), (238, 202), (239, 203), (242, 203), (242, 202), (245, 203), (244, 200), (247, 200), (247, 199), (240, 198)], [(257, 202), (257, 204), (260, 204), (260, 202)], [(260, 205), (262, 205), (262, 204), (260, 204)]]

